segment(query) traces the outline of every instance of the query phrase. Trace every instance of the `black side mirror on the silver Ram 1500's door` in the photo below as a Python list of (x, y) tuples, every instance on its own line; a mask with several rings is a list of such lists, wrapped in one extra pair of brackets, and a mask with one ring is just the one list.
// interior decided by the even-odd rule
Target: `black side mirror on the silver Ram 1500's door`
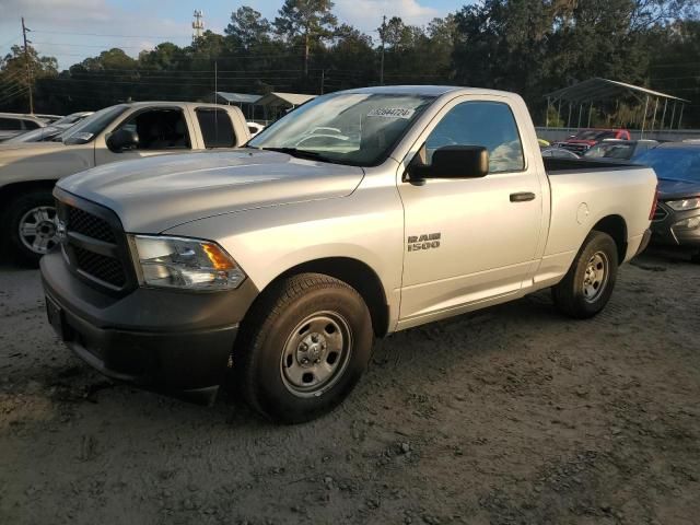
[(445, 145), (433, 153), (432, 164), (409, 167), (410, 182), (425, 178), (480, 178), (489, 173), (489, 152), (482, 145)]

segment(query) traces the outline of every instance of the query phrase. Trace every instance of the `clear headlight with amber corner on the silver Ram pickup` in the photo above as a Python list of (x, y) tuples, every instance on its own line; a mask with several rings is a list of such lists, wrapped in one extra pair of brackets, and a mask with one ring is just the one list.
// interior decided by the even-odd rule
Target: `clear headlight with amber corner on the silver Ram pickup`
[(187, 290), (230, 290), (245, 273), (217, 243), (198, 238), (133, 235), (143, 283)]

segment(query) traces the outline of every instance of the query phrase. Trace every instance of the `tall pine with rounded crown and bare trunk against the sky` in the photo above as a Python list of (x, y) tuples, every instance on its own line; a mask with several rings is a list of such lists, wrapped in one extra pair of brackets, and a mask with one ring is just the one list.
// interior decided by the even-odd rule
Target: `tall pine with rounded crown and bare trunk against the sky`
[(334, 35), (338, 20), (330, 12), (330, 0), (284, 0), (275, 19), (275, 28), (289, 42), (301, 39), (303, 47), (304, 78), (308, 77), (308, 54), (312, 44), (317, 45), (324, 38)]

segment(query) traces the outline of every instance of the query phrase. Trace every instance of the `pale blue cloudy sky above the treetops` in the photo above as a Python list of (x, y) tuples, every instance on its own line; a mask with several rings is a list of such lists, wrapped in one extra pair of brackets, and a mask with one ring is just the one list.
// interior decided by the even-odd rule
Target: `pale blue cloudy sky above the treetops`
[[(203, 11), (205, 28), (223, 32), (231, 12), (250, 5), (273, 20), (283, 0), (0, 0), (0, 54), (22, 43), (21, 18), (32, 30), (32, 45), (42, 55), (58, 59), (67, 69), (86, 57), (112, 47), (137, 56), (140, 50), (168, 40), (191, 42), (192, 11)], [(460, 8), (464, 1), (448, 0), (335, 0), (334, 13), (376, 38), (382, 15), (401, 16), (406, 23), (423, 25)]]

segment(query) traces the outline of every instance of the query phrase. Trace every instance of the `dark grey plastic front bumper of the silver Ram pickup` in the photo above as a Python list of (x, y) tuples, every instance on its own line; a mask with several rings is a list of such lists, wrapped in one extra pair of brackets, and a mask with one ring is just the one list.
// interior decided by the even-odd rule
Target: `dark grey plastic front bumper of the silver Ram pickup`
[(40, 266), (49, 322), (80, 358), (108, 377), (200, 401), (213, 400), (258, 293), (246, 280), (226, 292), (115, 298), (78, 279), (60, 252)]

